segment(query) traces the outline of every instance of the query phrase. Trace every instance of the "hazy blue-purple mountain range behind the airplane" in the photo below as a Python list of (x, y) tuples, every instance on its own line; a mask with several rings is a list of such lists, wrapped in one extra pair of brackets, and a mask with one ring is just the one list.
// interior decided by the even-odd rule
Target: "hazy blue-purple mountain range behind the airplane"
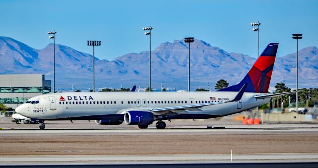
[[(0, 74), (44, 74), (53, 79), (53, 44), (34, 49), (9, 37), (0, 36)], [(191, 43), (191, 90), (209, 88), (224, 79), (238, 83), (251, 68), (255, 58), (241, 53), (228, 53), (202, 40)], [(92, 56), (71, 47), (56, 44), (56, 88), (91, 88)], [(300, 87), (318, 86), (318, 49), (306, 47), (299, 51)], [(284, 81), (295, 87), (296, 54), (277, 56), (271, 86)], [(161, 43), (152, 51), (152, 87), (185, 90), (188, 80), (188, 44), (180, 40)], [(53, 83), (53, 81), (52, 81)], [(129, 53), (112, 61), (95, 57), (95, 87), (149, 86), (149, 51)], [(52, 84), (53, 86), (53, 84)]]

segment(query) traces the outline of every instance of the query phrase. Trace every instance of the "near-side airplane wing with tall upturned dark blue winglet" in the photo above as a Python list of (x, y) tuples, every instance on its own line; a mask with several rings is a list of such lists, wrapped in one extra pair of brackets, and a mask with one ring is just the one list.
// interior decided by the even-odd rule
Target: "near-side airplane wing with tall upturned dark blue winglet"
[(216, 105), (216, 104), (229, 103), (233, 101), (239, 101), (244, 94), (246, 86), (247, 84), (244, 84), (239, 90), (238, 94), (235, 96), (235, 98), (231, 101), (212, 102), (212, 103), (203, 103), (203, 104), (189, 104), (189, 105), (181, 105), (181, 106), (174, 106), (174, 107), (154, 108), (150, 110), (152, 112), (169, 111), (169, 110), (188, 110), (189, 108), (200, 108), (200, 107), (204, 107), (208, 105)]

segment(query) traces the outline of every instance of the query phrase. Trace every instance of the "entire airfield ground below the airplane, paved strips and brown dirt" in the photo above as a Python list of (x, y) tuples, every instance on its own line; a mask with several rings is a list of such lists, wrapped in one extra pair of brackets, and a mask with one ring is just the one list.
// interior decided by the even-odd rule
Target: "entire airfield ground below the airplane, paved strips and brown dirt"
[(317, 167), (318, 162), (317, 124), (229, 124), (208, 129), (207, 121), (173, 122), (159, 130), (153, 125), (138, 129), (84, 121), (57, 123), (48, 123), (45, 130), (38, 129), (38, 125), (1, 124), (4, 130), (0, 130), (0, 166), (109, 167), (110, 164), (133, 168), (134, 164), (142, 164), (156, 168), (149, 165), (156, 163), (164, 168), (175, 164), (187, 164), (182, 167), (222, 164), (217, 167), (230, 168), (233, 164), (241, 167), (248, 163), (244, 166), (248, 168), (256, 163), (257, 167), (273, 163), (270, 166), (278, 168), (282, 167), (280, 163), (285, 164), (283, 167), (297, 165), (290, 165), (291, 162)]

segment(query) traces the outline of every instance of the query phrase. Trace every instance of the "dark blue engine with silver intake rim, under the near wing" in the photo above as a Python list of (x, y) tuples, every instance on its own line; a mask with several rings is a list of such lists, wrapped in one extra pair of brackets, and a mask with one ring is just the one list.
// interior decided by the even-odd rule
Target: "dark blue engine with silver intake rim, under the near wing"
[(151, 112), (128, 111), (125, 112), (124, 120), (129, 125), (150, 125), (156, 120), (156, 117)]

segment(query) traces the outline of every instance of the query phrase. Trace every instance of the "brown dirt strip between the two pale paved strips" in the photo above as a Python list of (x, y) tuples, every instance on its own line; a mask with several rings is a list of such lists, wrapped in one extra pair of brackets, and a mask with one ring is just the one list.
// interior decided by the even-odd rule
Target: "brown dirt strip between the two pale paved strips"
[(318, 134), (0, 136), (0, 155), (317, 153)]

